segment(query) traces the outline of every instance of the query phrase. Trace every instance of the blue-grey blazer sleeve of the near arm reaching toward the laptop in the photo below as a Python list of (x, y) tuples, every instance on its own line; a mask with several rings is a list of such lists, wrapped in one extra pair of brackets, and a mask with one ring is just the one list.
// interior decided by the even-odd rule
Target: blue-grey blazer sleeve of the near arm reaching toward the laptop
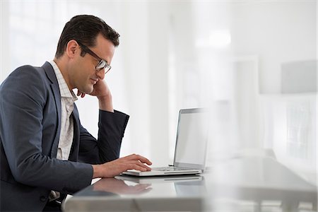
[(42, 123), (50, 92), (34, 67), (13, 71), (0, 88), (0, 139), (17, 182), (73, 193), (91, 183), (93, 167), (43, 153), (43, 143), (53, 142), (45, 140)]

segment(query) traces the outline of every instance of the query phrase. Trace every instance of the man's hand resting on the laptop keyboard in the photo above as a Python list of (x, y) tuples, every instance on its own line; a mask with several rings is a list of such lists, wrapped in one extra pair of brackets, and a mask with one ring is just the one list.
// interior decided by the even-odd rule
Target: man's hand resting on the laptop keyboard
[(141, 155), (128, 155), (124, 158), (112, 160), (101, 165), (93, 165), (93, 178), (96, 177), (114, 177), (126, 170), (139, 170), (142, 172), (150, 171), (151, 161)]

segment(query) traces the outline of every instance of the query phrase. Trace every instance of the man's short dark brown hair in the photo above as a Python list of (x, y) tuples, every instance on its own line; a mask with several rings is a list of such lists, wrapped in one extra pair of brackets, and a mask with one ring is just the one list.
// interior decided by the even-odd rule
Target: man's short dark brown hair
[[(67, 43), (70, 40), (76, 40), (88, 47), (94, 47), (96, 45), (96, 37), (100, 33), (107, 40), (110, 40), (115, 47), (119, 45), (120, 35), (101, 18), (90, 15), (74, 16), (64, 26), (61, 37), (59, 37), (55, 57), (59, 58), (64, 54)], [(81, 55), (83, 56), (84, 54), (85, 52), (82, 51)]]

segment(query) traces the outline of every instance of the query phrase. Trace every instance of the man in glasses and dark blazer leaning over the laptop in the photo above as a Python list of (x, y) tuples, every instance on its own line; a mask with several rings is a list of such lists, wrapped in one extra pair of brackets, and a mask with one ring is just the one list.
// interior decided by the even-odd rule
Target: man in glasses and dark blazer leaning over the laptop
[[(54, 61), (19, 67), (1, 84), (1, 211), (60, 211), (93, 178), (151, 170), (141, 155), (119, 158), (129, 116), (113, 109), (103, 80), (118, 38), (100, 18), (75, 16)], [(81, 125), (73, 88), (98, 98), (97, 140)]]

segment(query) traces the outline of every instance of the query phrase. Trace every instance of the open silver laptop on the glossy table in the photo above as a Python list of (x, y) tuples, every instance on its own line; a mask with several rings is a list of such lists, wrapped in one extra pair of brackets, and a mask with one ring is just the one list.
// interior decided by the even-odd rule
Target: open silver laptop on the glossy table
[(205, 169), (207, 143), (208, 110), (203, 108), (179, 110), (173, 165), (152, 167), (148, 172), (127, 170), (122, 174), (143, 177), (202, 173)]

